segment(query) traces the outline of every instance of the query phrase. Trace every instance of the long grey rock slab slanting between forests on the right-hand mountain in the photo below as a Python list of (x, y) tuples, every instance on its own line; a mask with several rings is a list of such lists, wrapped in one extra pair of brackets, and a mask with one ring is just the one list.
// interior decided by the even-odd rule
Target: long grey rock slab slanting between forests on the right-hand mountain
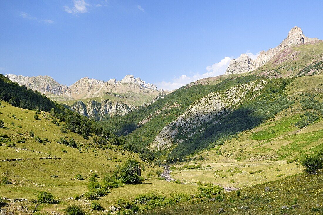
[[(218, 123), (222, 117), (233, 111), (236, 105), (244, 101), (248, 92), (257, 92), (265, 85), (266, 82), (263, 80), (253, 81), (231, 87), (224, 92), (213, 92), (196, 100), (176, 120), (166, 125), (153, 142), (148, 144), (147, 148), (152, 151), (155, 149), (167, 150), (172, 147), (179, 131), (181, 136), (185, 138), (199, 132), (196, 130), (204, 123), (211, 120), (214, 120), (214, 124)], [(184, 140), (177, 138), (176, 143)]]

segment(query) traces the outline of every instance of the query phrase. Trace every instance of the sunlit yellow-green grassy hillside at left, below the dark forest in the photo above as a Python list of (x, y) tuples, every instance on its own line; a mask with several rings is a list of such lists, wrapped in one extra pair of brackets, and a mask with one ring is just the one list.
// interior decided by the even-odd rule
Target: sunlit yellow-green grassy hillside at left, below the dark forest
[[(11, 185), (0, 184), (1, 196), (12, 199), (36, 199), (39, 192), (49, 191), (60, 200), (60, 203), (42, 206), (42, 211), (62, 212), (67, 204), (80, 204), (80, 201), (69, 198), (88, 191), (88, 179), (93, 174), (90, 170), (102, 178), (104, 174), (112, 173), (116, 169), (115, 165), (120, 165), (127, 158), (140, 160), (138, 154), (123, 150), (122, 147), (101, 149), (96, 147), (92, 140), (86, 140), (76, 133), (62, 133), (60, 127), (50, 123), (48, 112), (41, 112), (40, 119), (35, 120), (34, 111), (16, 108), (4, 101), (0, 112), (0, 119), (5, 122), (5, 128), (0, 128), (0, 135), (7, 135), (14, 143), (13, 147), (7, 147), (8, 142), (2, 139), (0, 146), (0, 170), (3, 176), (7, 176), (12, 182)], [(16, 119), (12, 117), (13, 114)], [(30, 130), (34, 131), (35, 136), (48, 138), (48, 142), (44, 144), (37, 142), (35, 138), (30, 137)], [(56, 139), (60, 137), (74, 138), (82, 145), (81, 151), (79, 152), (78, 148), (58, 144)], [(25, 138), (25, 142), (19, 143), (18, 140), (22, 138)], [(63, 152), (62, 149), (67, 152)], [(48, 155), (52, 159), (40, 159)], [(60, 159), (54, 159), (55, 156)], [(11, 161), (11, 159), (22, 160)], [(140, 163), (144, 167), (141, 171), (141, 175), (146, 179), (144, 183), (111, 189), (111, 193), (98, 201), (102, 207), (109, 208), (120, 198), (131, 201), (140, 193), (156, 190), (165, 195), (183, 191), (192, 194), (195, 192), (196, 186), (157, 179), (156, 174), (151, 174), (151, 171), (162, 170), (160, 167), (142, 160)], [(75, 180), (76, 174), (83, 175), (85, 180)], [(51, 177), (53, 175), (58, 177)], [(87, 210), (86, 207), (85, 209)]]

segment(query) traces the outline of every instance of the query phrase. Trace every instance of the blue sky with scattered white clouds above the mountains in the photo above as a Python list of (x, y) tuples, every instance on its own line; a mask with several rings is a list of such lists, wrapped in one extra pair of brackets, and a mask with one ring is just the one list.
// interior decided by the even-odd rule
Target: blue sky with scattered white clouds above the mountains
[(277, 46), (294, 26), (323, 39), (322, 10), (323, 1), (2, 0), (0, 73), (66, 85), (133, 74), (175, 89)]

